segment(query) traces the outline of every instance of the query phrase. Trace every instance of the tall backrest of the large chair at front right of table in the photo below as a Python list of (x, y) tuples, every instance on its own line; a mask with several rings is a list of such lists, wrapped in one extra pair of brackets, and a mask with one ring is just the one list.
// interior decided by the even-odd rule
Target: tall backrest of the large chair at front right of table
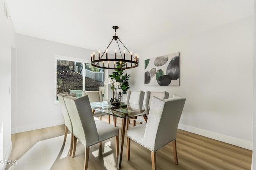
[(150, 107), (143, 145), (156, 151), (176, 139), (178, 123), (186, 98), (161, 100), (154, 97)]

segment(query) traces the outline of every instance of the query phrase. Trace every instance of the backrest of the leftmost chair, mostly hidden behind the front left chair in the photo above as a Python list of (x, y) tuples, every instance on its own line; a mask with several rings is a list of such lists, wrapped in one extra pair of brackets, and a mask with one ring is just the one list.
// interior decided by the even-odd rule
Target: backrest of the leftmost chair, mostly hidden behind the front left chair
[(67, 110), (66, 104), (65, 104), (64, 99), (63, 99), (63, 97), (67, 96), (67, 95), (76, 97), (76, 94), (74, 94), (74, 93), (68, 94), (68, 92), (63, 92), (63, 93), (57, 94), (59, 102), (60, 102), (60, 108), (62, 110), (62, 114), (63, 114), (63, 117), (64, 117), (65, 125), (68, 128), (68, 130), (71, 133), (73, 133), (73, 128), (72, 128), (72, 123), (70, 121), (70, 116), (68, 114), (68, 110)]

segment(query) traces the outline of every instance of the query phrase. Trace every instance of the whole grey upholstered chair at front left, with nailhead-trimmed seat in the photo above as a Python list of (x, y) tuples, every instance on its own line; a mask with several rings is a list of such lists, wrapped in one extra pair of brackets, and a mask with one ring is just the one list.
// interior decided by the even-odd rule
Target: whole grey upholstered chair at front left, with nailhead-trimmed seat
[(74, 98), (65, 96), (64, 101), (70, 115), (74, 133), (74, 158), (77, 139), (85, 147), (84, 170), (88, 168), (90, 146), (116, 137), (116, 158), (118, 158), (118, 128), (104, 121), (94, 121), (88, 96)]

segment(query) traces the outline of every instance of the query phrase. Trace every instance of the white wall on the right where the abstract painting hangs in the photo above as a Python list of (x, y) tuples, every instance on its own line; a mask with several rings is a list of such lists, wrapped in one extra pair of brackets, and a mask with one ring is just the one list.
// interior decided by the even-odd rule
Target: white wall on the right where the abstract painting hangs
[[(180, 52), (180, 86), (144, 86), (144, 60)], [(139, 53), (131, 90), (186, 97), (180, 129), (252, 150), (253, 17)], [(138, 76), (134, 76), (138, 75)]]

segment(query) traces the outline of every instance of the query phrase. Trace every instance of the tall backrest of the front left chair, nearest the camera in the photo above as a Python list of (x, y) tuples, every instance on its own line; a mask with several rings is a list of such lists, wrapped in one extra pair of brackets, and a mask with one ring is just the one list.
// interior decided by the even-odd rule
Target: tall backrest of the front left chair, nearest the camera
[(64, 101), (70, 115), (75, 137), (86, 148), (98, 143), (99, 135), (88, 96), (80, 98), (65, 96)]

